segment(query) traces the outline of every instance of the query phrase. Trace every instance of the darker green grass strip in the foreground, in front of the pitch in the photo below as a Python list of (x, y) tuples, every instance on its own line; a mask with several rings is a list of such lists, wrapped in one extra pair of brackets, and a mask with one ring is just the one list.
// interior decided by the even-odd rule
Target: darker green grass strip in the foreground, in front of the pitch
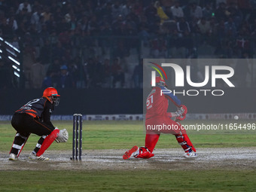
[(246, 171), (8, 171), (0, 191), (255, 191)]

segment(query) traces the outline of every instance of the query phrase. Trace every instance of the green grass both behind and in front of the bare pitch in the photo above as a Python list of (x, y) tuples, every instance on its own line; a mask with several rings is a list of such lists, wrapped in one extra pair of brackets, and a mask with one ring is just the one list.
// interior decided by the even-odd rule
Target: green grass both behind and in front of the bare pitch
[[(184, 121), (230, 124), (254, 121)], [(69, 131), (69, 142), (53, 143), (48, 150), (72, 150), (72, 121), (53, 121)], [(142, 121), (84, 121), (84, 149), (127, 149), (145, 145)], [(255, 147), (255, 130), (187, 130), (196, 148)], [(0, 121), (0, 151), (11, 148), (15, 130)], [(23, 150), (31, 151), (39, 139), (30, 136)], [(156, 148), (180, 148), (172, 135), (160, 136)], [(0, 171), (0, 191), (256, 191), (255, 170), (126, 170), (126, 171)]]

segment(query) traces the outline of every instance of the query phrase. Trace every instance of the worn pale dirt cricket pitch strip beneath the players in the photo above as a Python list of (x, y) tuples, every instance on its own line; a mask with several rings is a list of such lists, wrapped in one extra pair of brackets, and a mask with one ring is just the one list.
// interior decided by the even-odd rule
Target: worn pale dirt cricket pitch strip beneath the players
[(70, 160), (72, 151), (46, 151), (47, 162), (29, 160), (23, 151), (19, 160), (0, 152), (0, 170), (206, 170), (256, 169), (256, 148), (198, 148), (197, 158), (183, 157), (181, 149), (156, 149), (151, 159), (123, 160), (124, 150), (84, 150), (82, 160)]

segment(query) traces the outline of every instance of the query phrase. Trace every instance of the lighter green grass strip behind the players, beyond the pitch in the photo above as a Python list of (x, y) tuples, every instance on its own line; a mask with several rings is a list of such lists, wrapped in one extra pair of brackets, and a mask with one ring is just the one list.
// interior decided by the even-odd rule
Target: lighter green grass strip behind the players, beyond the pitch
[[(234, 130), (234, 123), (244, 128)], [(252, 130), (256, 122), (253, 120), (184, 120), (186, 125), (223, 125), (223, 130), (187, 130), (190, 140), (196, 148), (230, 148), (256, 146), (256, 130)], [(69, 131), (69, 141), (62, 145), (51, 145), (49, 150), (72, 149), (72, 121), (53, 121), (59, 129)], [(227, 126), (226, 126), (227, 125)], [(246, 127), (245, 127), (246, 126)], [(251, 126), (251, 130), (248, 130)], [(220, 126), (221, 127), (221, 126)], [(227, 130), (226, 130), (227, 127)], [(232, 128), (232, 130), (231, 130)], [(126, 149), (133, 145), (145, 145), (143, 121), (84, 121), (83, 148), (84, 149)], [(14, 140), (15, 130), (8, 121), (0, 121), (0, 151), (9, 151)], [(31, 151), (39, 137), (29, 137), (23, 150)], [(163, 134), (160, 136), (156, 148), (180, 148), (175, 136)]]

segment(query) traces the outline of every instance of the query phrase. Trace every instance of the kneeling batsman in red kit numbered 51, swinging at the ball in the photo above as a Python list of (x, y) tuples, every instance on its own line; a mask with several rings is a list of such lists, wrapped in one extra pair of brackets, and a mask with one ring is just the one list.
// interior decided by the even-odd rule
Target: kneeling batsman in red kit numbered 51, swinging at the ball
[[(130, 157), (145, 159), (154, 157), (153, 151), (160, 133), (174, 135), (178, 144), (184, 149), (184, 157), (197, 157), (196, 149), (190, 142), (186, 130), (179, 123), (186, 117), (187, 107), (181, 105), (181, 101), (170, 93), (166, 87), (163, 78), (156, 77), (156, 87), (152, 87), (147, 98), (145, 147), (133, 146), (123, 154), (124, 160)], [(177, 107), (175, 113), (167, 112), (169, 100)], [(175, 117), (175, 120), (172, 120), (172, 117)]]

